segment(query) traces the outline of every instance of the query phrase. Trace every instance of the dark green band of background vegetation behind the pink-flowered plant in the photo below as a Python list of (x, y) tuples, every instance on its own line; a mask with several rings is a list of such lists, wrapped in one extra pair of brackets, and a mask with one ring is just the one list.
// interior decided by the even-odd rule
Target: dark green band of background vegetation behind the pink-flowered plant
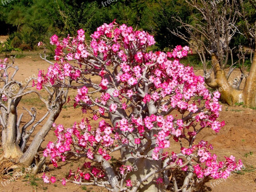
[[(178, 29), (186, 34), (180, 23), (193, 22), (194, 14), (183, 0), (117, 0), (102, 5), (102, 0), (14, 0), (6, 5), (0, 3), (0, 35), (15, 34), (14, 48), (34, 50), (39, 41), (47, 42), (53, 34), (59, 36), (76, 35), (83, 28), (86, 38), (103, 23), (116, 19), (133, 28), (143, 29), (155, 36), (156, 50), (168, 50), (185, 42), (172, 35), (170, 30)], [(240, 21), (241, 32), (244, 23)], [(232, 45), (251, 45), (249, 38), (237, 34)]]

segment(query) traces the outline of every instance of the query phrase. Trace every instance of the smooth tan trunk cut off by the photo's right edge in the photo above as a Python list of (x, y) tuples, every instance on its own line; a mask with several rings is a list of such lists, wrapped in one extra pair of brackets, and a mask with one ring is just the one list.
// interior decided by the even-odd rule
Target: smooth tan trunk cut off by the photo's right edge
[(250, 72), (244, 84), (244, 104), (248, 107), (256, 107), (256, 49), (252, 59)]

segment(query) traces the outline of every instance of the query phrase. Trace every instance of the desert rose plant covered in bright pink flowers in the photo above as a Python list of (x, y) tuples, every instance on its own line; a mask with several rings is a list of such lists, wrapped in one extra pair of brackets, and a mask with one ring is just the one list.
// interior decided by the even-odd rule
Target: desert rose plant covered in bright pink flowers
[[(211, 97), (204, 78), (180, 64), (189, 47), (148, 51), (153, 36), (115, 21), (97, 28), (90, 43), (84, 30), (77, 33), (63, 40), (52, 36), (57, 62), (39, 74), (37, 87), (77, 89), (74, 107), (81, 106), (90, 117), (66, 129), (53, 124), (58, 140), (48, 143), (44, 156), (56, 167), (72, 156), (84, 158), (84, 165), (70, 170), (67, 178), (44, 173), (44, 182), (96, 185), (113, 192), (165, 191), (170, 185), (172, 191), (185, 192), (241, 169), (241, 160), (230, 156), (217, 161), (212, 145), (195, 143), (200, 131), (219, 132), (224, 122), (218, 121), (220, 93)], [(175, 142), (180, 149), (174, 152)], [(117, 152), (118, 167), (110, 162)]]

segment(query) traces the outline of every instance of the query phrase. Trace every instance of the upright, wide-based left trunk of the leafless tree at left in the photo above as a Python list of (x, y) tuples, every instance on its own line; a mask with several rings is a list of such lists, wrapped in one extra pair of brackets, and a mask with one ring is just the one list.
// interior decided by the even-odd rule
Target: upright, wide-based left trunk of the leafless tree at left
[(8, 99), (8, 109), (10, 109), (10, 113), (8, 114), (8, 122), (4, 136), (4, 158), (18, 159), (23, 153), (16, 142), (17, 108), (12, 99)]

